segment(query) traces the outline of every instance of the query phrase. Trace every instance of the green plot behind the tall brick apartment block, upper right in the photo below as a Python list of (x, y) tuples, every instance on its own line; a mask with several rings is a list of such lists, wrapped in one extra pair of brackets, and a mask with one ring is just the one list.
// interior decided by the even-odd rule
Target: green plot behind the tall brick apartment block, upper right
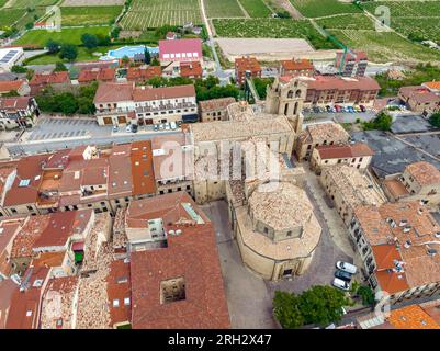
[(394, 32), (335, 30), (331, 33), (350, 48), (365, 50), (374, 63), (440, 63), (440, 52), (414, 44)]

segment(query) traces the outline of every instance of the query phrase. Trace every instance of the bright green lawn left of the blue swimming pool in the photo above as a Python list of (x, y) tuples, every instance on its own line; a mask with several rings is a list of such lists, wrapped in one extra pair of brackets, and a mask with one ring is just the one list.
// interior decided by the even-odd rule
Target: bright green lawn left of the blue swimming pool
[(84, 33), (109, 35), (110, 26), (91, 26), (80, 29), (63, 29), (61, 32), (48, 32), (44, 30), (30, 31), (24, 34), (16, 44), (35, 45), (44, 47), (49, 38), (65, 44), (81, 44), (81, 35)]

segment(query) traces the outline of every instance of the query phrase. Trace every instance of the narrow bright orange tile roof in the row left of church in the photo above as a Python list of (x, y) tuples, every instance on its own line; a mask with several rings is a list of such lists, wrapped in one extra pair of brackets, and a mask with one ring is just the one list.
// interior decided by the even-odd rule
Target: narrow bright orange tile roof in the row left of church
[(151, 141), (134, 141), (131, 150), (133, 195), (156, 193)]

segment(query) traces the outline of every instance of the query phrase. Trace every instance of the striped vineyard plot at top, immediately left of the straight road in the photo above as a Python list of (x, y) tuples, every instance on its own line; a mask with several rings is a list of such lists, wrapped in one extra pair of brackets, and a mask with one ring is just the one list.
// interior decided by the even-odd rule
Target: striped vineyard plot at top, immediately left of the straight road
[(134, 0), (121, 25), (124, 30), (145, 31), (188, 22), (202, 23), (199, 0)]

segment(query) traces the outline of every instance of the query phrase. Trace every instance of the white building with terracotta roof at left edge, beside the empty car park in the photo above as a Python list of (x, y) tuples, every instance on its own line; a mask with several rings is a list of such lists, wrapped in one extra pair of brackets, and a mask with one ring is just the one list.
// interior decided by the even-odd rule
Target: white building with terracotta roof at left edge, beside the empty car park
[(0, 128), (31, 127), (40, 115), (34, 98), (0, 98)]

